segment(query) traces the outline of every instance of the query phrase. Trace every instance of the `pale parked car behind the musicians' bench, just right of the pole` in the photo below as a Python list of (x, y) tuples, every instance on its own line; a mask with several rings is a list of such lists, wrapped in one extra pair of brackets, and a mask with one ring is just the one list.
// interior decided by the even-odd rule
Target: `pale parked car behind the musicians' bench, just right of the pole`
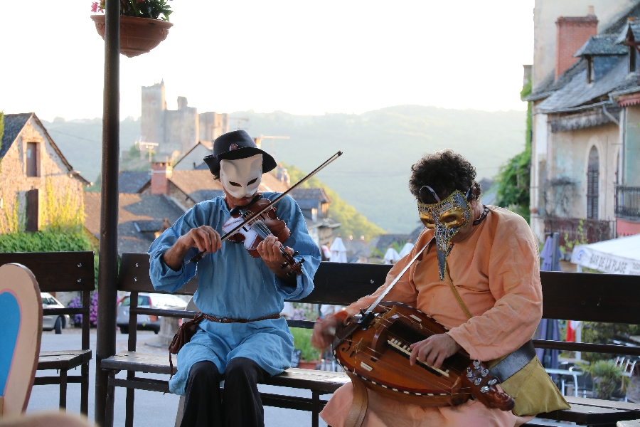
[[(123, 334), (129, 333), (129, 307), (131, 306), (131, 298), (129, 295), (122, 298), (118, 304), (118, 313), (116, 325)], [(149, 294), (140, 292), (138, 294), (138, 307), (144, 308), (163, 308), (170, 310), (185, 310), (187, 303), (181, 297), (170, 294)], [(138, 315), (138, 330), (152, 330), (156, 334), (160, 332), (159, 316)]]

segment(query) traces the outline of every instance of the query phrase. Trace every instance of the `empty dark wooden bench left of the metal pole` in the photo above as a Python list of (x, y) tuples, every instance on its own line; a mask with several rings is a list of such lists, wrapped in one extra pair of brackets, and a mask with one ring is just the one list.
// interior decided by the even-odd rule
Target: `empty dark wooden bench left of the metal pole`
[[(80, 349), (40, 352), (38, 370), (56, 369), (59, 376), (36, 376), (33, 385), (60, 384), (60, 408), (67, 406), (67, 384), (80, 383), (80, 412), (89, 408), (89, 304), (95, 289), (93, 252), (16, 252), (0, 253), (0, 265), (18, 263), (36, 276), (42, 292), (82, 292), (82, 307), (43, 308), (43, 315), (82, 315)], [(80, 367), (80, 375), (69, 376), (69, 369)]]

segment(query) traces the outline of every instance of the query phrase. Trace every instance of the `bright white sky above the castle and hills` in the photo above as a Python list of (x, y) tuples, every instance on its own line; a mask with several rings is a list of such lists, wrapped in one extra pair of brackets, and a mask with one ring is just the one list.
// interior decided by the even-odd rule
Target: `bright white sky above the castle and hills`
[[(103, 42), (91, 0), (4, 1), (0, 110), (102, 116)], [(120, 56), (121, 117), (164, 78), (169, 109), (301, 115), (401, 104), (524, 110), (533, 0), (173, 0), (159, 47)]]

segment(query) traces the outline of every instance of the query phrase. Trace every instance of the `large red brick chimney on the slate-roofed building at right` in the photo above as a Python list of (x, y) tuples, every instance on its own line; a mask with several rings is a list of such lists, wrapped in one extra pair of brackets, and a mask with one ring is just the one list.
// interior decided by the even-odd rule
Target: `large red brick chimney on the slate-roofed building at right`
[(555, 41), (555, 80), (580, 58), (573, 54), (598, 33), (598, 19), (593, 6), (589, 6), (587, 16), (560, 16), (555, 21), (558, 27)]

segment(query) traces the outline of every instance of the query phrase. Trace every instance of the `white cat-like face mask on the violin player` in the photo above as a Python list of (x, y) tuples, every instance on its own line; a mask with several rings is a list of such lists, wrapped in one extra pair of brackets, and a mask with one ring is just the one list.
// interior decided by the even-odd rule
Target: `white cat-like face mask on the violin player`
[(246, 159), (220, 160), (220, 181), (236, 199), (253, 196), (262, 180), (262, 154)]

